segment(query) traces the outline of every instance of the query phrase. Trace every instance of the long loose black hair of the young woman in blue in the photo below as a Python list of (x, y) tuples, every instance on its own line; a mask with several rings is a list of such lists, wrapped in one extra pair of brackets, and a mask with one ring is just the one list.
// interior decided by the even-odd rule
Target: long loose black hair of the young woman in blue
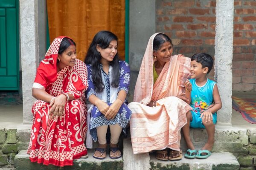
[[(102, 56), (100, 55), (99, 51), (97, 51), (96, 47), (97, 45), (100, 48), (108, 48), (110, 42), (112, 40), (118, 41), (118, 38), (115, 34), (113, 34), (110, 31), (99, 31), (94, 37), (93, 41), (90, 44), (90, 47), (87, 51), (86, 57), (85, 57), (85, 64), (92, 66), (92, 75), (93, 75), (93, 84), (95, 86), (95, 91), (97, 93), (100, 93), (104, 90), (105, 85), (102, 81), (102, 74), (101, 74), (101, 68), (100, 68), (100, 60)], [(119, 71), (119, 56), (118, 53), (116, 53), (115, 57), (113, 58), (113, 61), (109, 63), (113, 70), (111, 73), (112, 81), (110, 82), (111, 87), (117, 88), (119, 85), (119, 78), (120, 78), (120, 71)]]

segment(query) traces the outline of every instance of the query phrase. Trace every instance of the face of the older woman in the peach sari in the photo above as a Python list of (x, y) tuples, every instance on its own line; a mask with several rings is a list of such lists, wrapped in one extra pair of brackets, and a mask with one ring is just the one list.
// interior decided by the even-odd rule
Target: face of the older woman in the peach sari
[(153, 55), (157, 57), (159, 62), (169, 62), (173, 53), (173, 47), (170, 42), (164, 42), (159, 50), (154, 51)]

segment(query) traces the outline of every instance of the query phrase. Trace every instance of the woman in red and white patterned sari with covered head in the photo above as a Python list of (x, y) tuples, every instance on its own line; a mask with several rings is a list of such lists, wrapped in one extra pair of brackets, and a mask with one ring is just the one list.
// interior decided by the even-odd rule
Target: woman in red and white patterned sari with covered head
[(28, 154), (32, 162), (55, 166), (73, 165), (73, 159), (87, 156), (84, 91), (87, 68), (76, 59), (76, 44), (69, 37), (57, 37), (41, 61), (32, 95), (38, 99)]

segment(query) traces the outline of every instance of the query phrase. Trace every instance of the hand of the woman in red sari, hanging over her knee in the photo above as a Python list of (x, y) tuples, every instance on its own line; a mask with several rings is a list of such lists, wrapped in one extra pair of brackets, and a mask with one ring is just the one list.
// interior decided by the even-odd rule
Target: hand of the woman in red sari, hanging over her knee
[(67, 97), (64, 94), (60, 94), (58, 97), (50, 102), (49, 106), (51, 107), (50, 114), (52, 116), (52, 119), (56, 116), (56, 119), (60, 117), (60, 121), (62, 120), (66, 102)]

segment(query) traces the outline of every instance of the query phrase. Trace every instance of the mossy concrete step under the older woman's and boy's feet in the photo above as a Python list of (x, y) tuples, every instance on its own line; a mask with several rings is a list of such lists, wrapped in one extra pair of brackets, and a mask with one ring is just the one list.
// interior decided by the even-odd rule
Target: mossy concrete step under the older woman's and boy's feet
[(150, 153), (151, 170), (239, 170), (239, 163), (232, 153), (212, 153), (207, 159), (160, 161)]

